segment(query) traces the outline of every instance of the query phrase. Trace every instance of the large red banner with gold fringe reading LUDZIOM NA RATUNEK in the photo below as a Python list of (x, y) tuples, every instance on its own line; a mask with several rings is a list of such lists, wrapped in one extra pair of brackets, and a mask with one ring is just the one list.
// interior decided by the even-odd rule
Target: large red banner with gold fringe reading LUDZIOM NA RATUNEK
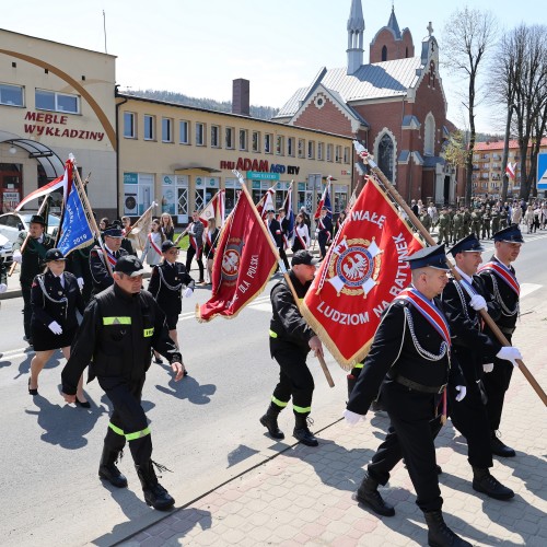
[(369, 177), (301, 310), (344, 369), (366, 356), (382, 312), (410, 283), (410, 267), (404, 259), (422, 247)]

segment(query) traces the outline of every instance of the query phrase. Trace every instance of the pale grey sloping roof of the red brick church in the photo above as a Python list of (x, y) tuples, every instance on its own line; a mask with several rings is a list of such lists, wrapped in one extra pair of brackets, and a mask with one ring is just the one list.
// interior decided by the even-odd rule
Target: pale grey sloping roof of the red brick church
[[(419, 57), (363, 65), (353, 74), (346, 67), (326, 70), (321, 83), (329, 91), (338, 93), (344, 102), (389, 98), (405, 96), (418, 82), (421, 68)], [(281, 107), (276, 118), (292, 117), (306, 98), (310, 86), (299, 89)]]

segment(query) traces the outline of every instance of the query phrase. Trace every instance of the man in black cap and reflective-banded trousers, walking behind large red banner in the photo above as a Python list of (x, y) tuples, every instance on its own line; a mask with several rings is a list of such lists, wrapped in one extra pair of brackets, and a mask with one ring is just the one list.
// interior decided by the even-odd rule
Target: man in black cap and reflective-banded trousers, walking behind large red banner
[[(292, 256), (291, 282), (299, 299), (303, 299), (315, 277), (314, 259), (307, 251), (296, 251)], [(323, 356), (319, 338), (300, 314), (292, 292), (283, 279), (271, 289), (274, 316), (270, 322), (270, 353), (279, 363), (279, 383), (274, 389), (271, 403), (260, 423), (274, 439), (284, 439), (277, 418), (292, 396), (295, 426), (293, 435), (307, 446), (317, 446), (317, 439), (307, 428), (307, 416), (312, 410), (313, 376), (306, 364), (310, 350)]]

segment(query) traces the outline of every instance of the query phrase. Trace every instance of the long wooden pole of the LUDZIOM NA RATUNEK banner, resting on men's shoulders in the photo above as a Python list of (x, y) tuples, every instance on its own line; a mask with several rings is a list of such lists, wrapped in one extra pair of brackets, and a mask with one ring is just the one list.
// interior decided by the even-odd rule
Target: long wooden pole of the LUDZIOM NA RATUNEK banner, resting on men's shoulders
[[(361, 156), (363, 160), (363, 163), (366, 163), (370, 167), (371, 171), (382, 181), (384, 184), (385, 188), (392, 196), (392, 198), (403, 208), (403, 210), (408, 214), (408, 218), (410, 219), (410, 222), (415, 225), (415, 228), (420, 232), (422, 237), (426, 240), (427, 243), (430, 245), (435, 245), (435, 241), (429, 233), (429, 230), (426, 230), (423, 224), (420, 222), (418, 217), (412, 212), (412, 210), (408, 207), (406, 201), (403, 199), (400, 194), (395, 189), (395, 187), (389, 183), (387, 177), (382, 173), (382, 170), (376, 165), (374, 160), (371, 158), (366, 149), (364, 149), (359, 142), (353, 141), (353, 144), (356, 146), (356, 150), (358, 154)], [(360, 148), (358, 148), (358, 146)], [(450, 267), (451, 274), (454, 276), (454, 278), (457, 281), (462, 281), (462, 276), (457, 272), (457, 270), (454, 268), (453, 264), (446, 259), (446, 264)], [(463, 287), (465, 288), (465, 283), (463, 283)], [(500, 330), (498, 325), (494, 323), (494, 321), (490, 317), (489, 313), (486, 310), (479, 310), (479, 314), (481, 318), (485, 321), (485, 323), (488, 325), (490, 330), (494, 334), (496, 338), (498, 338), (498, 341), (502, 346), (511, 346), (510, 341), (505, 338), (505, 335)], [(537, 380), (534, 377), (532, 372), (527, 369), (527, 366), (524, 364), (522, 359), (516, 359), (516, 363), (519, 364), (519, 370), (524, 374), (524, 377), (528, 381), (529, 385), (534, 388), (536, 394), (539, 396), (542, 399), (543, 404), (547, 406), (547, 395), (543, 391), (542, 386), (537, 382)]]

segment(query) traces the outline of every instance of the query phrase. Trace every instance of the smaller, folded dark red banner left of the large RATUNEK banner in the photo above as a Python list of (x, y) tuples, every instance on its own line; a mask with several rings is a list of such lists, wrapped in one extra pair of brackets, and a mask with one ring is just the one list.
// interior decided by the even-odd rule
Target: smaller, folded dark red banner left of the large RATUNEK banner
[(217, 316), (228, 319), (263, 292), (276, 268), (277, 257), (249, 201), (240, 194), (219, 236), (212, 266), (212, 296), (196, 305), (196, 317), (208, 322)]

